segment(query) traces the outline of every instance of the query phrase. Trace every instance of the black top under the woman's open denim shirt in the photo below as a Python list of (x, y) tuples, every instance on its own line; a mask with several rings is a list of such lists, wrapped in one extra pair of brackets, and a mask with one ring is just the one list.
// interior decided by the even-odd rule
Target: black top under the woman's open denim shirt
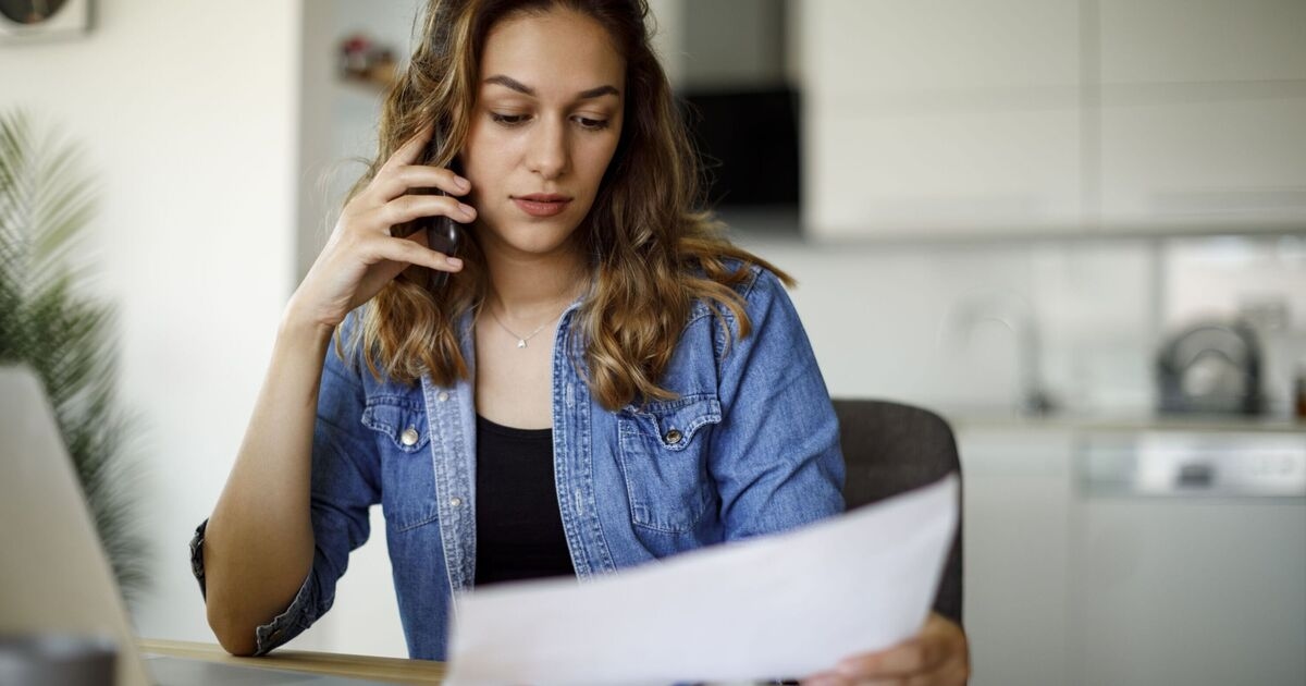
[(573, 574), (552, 429), (513, 429), (478, 414), (475, 585)]

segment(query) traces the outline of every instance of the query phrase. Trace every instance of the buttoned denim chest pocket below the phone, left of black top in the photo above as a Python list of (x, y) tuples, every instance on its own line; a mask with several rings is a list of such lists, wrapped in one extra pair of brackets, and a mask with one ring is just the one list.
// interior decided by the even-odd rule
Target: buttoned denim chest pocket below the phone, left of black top
[(387, 527), (397, 533), (435, 520), (435, 466), (426, 409), (405, 399), (368, 399), (363, 426), (376, 433), (381, 455)]

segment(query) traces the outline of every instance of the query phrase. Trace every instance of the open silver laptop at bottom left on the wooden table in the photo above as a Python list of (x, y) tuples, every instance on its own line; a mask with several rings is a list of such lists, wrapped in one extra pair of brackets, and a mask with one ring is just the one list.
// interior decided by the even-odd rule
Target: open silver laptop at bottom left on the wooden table
[(40, 380), (0, 367), (0, 636), (118, 645), (119, 686), (359, 686), (363, 679), (142, 656)]

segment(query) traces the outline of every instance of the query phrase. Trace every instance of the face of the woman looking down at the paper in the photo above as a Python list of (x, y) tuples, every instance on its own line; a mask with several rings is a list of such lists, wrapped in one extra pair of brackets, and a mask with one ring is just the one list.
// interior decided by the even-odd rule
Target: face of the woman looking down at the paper
[(622, 135), (626, 60), (589, 17), (518, 14), (486, 37), (478, 88), (462, 165), (482, 247), (567, 250)]

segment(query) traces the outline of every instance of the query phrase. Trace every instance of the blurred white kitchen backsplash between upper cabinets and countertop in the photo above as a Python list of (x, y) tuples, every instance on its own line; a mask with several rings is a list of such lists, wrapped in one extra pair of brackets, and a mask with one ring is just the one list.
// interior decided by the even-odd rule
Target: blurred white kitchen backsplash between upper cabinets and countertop
[(823, 246), (735, 229), (799, 281), (793, 299), (836, 396), (1015, 413), (1042, 391), (1058, 410), (1145, 416), (1169, 331), (1282, 303), (1266, 357), (1268, 410), (1286, 414), (1306, 354), (1297, 237)]

